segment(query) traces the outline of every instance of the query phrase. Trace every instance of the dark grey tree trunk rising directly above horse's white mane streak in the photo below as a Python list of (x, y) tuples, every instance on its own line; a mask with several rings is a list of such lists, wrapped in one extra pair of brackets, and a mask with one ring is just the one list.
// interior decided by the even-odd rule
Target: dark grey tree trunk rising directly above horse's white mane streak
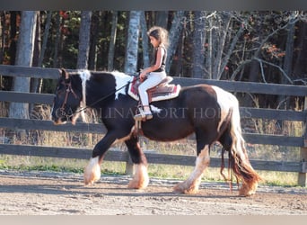
[(87, 68), (90, 50), (92, 11), (81, 13), (81, 25), (79, 30), (79, 50), (77, 68)]

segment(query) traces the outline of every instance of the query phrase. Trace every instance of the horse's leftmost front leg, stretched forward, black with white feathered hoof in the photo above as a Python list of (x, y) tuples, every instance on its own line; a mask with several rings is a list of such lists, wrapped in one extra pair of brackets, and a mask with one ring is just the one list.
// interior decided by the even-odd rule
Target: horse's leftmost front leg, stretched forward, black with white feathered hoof
[(102, 159), (115, 139), (116, 137), (112, 135), (112, 133), (108, 132), (93, 148), (90, 162), (84, 168), (85, 185), (93, 184), (101, 178)]

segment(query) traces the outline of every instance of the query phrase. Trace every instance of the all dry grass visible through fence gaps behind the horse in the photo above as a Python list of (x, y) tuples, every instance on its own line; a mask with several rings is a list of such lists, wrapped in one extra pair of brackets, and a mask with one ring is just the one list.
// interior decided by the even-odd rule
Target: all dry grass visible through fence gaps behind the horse
[[(50, 108), (46, 105), (37, 105), (31, 117), (35, 119), (48, 120)], [(6, 115), (5, 115), (6, 114)], [(0, 116), (7, 116), (4, 110)], [(250, 119), (245, 121), (249, 124), (250, 130), (258, 133), (268, 134), (286, 134), (300, 136), (303, 133), (303, 123), (297, 121), (283, 121), (282, 126), (277, 121), (266, 121)], [(13, 130), (0, 130), (0, 136), (10, 139), (12, 144), (31, 144), (39, 146), (55, 147), (75, 147), (75, 148), (93, 148), (95, 143), (101, 139), (99, 134), (84, 134), (76, 132), (58, 132), (28, 130), (26, 136), (19, 136)], [(196, 143), (193, 139), (181, 139), (174, 142), (155, 142), (145, 138), (140, 138), (140, 144), (143, 149), (154, 149), (157, 153), (173, 155), (192, 155), (195, 156)], [(116, 148), (126, 149), (124, 144), (116, 144)], [(277, 161), (299, 161), (300, 148), (286, 148), (278, 146), (247, 145), (250, 159), (265, 159)], [(221, 157), (221, 147), (215, 145), (211, 149), (211, 157)], [(66, 159), (54, 157), (27, 157), (0, 155), (0, 169), (13, 170), (37, 170), (37, 171), (57, 171), (83, 173), (88, 159)], [(102, 174), (124, 175), (126, 170), (125, 162), (108, 162), (101, 165)], [(148, 173), (156, 178), (176, 178), (186, 179), (192, 172), (193, 166), (170, 166), (149, 164)], [(204, 181), (224, 182), (220, 175), (219, 168), (209, 167), (204, 175)], [(264, 178), (263, 184), (269, 185), (291, 185), (297, 184), (297, 173), (258, 171)], [(225, 170), (225, 173), (226, 170)]]

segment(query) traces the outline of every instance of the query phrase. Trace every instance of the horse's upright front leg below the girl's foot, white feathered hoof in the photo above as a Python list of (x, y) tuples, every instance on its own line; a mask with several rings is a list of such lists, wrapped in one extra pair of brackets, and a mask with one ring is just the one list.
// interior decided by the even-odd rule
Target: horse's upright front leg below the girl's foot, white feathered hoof
[(130, 153), (131, 160), (135, 164), (135, 174), (133, 179), (129, 182), (128, 188), (143, 189), (149, 184), (147, 159), (144, 152), (140, 148), (137, 137), (131, 135), (131, 138), (127, 139), (125, 142)]

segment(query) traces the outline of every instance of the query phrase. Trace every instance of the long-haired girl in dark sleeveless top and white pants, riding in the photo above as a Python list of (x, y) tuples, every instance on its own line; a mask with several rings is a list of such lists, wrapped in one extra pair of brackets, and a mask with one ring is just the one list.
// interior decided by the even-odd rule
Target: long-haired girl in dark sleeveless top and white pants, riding
[[(150, 120), (153, 118), (153, 114), (149, 107), (147, 90), (153, 86), (159, 85), (166, 77), (165, 62), (167, 57), (168, 31), (162, 27), (153, 26), (147, 34), (150, 43), (153, 45), (153, 63), (151, 67), (143, 69), (140, 74), (142, 84), (138, 86), (138, 93), (144, 112), (136, 114), (135, 120), (137, 121), (143, 119)], [(146, 76), (147, 78), (145, 79)]]

